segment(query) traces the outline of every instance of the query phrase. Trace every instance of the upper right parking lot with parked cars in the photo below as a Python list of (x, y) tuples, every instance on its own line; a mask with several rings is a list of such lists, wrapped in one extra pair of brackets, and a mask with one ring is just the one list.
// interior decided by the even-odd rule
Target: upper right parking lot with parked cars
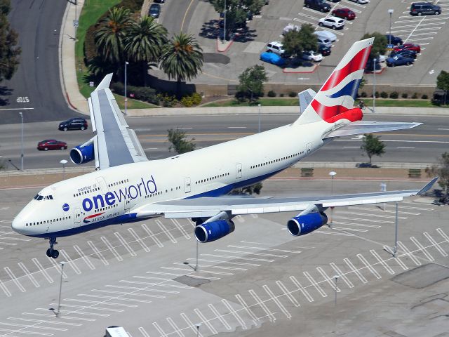
[[(420, 44), (422, 55), (415, 65), (388, 69), (377, 77), (377, 84), (401, 86), (434, 86), (436, 77), (449, 62), (446, 35), (449, 32), (449, 0), (436, 1), (442, 8), (441, 15), (411, 16), (409, 12), (412, 0), (387, 1), (371, 0), (369, 4), (356, 4), (342, 0), (330, 3), (332, 8), (350, 8), (357, 15), (355, 20), (346, 22), (344, 29), (332, 30), (318, 27), (318, 20), (326, 13), (314, 11), (302, 6), (303, 1), (270, 1), (262, 8), (261, 15), (255, 15), (248, 22), (248, 31), (237, 38), (229, 50), (223, 53), (229, 62), (206, 62), (203, 74), (195, 79), (201, 84), (236, 84), (238, 76), (255, 64), (260, 64), (259, 55), (270, 41), (281, 41), (283, 27), (288, 24), (302, 25), (310, 23), (317, 29), (328, 29), (337, 35), (331, 55), (316, 67), (314, 72), (285, 73), (281, 68), (264, 62), (269, 81), (279, 84), (322, 84), (337, 65), (350, 46), (361, 39), (366, 32), (389, 32), (389, 9), (391, 15), (391, 33), (401, 37), (404, 42)], [(166, 5), (167, 6), (167, 5)], [(194, 7), (192, 20), (185, 25), (187, 30), (199, 37), (203, 51), (217, 53), (217, 36), (219, 16), (206, 1), (200, 1)], [(163, 23), (163, 20), (162, 20)], [(155, 72), (158, 76), (161, 73)], [(367, 74), (368, 82), (372, 75)]]

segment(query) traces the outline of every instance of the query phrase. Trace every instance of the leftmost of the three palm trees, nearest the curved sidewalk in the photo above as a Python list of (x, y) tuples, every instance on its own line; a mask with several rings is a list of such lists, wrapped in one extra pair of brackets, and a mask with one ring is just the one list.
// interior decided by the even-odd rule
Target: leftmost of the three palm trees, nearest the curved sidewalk
[(123, 63), (123, 39), (126, 28), (132, 22), (128, 8), (112, 8), (109, 15), (102, 18), (100, 27), (94, 33), (95, 45), (103, 60), (113, 64)]

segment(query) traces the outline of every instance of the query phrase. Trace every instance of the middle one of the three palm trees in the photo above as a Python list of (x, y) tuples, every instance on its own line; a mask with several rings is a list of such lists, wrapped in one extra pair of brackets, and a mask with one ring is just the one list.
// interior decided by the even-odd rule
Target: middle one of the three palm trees
[(167, 43), (167, 29), (154, 18), (144, 16), (126, 27), (123, 43), (128, 60), (140, 63), (145, 84), (149, 62), (159, 62), (162, 47)]

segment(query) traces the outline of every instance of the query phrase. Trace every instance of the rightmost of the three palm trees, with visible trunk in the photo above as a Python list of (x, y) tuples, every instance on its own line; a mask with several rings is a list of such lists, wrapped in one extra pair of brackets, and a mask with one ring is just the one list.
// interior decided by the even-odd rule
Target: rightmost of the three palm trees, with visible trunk
[(181, 82), (201, 72), (203, 51), (193, 35), (180, 32), (163, 46), (161, 68), (169, 79), (176, 79), (176, 94), (180, 98)]

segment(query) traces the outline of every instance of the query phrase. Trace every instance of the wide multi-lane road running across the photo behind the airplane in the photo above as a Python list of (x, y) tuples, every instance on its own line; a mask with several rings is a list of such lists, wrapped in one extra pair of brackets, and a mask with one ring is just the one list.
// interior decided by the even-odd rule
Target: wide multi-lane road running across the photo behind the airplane
[[(295, 115), (264, 115), (262, 131), (291, 123)], [(436, 158), (447, 151), (449, 128), (446, 117), (415, 117), (366, 114), (367, 120), (382, 121), (420, 121), (421, 126), (408, 131), (383, 133), (381, 140), (386, 145), (386, 153), (375, 157), (376, 163), (406, 162), (434, 163)], [(170, 157), (168, 152), (167, 130), (182, 128), (188, 138), (195, 138), (198, 148), (207, 147), (226, 140), (248, 136), (257, 132), (257, 116), (191, 116), (191, 117), (133, 117), (128, 118), (130, 128), (138, 135), (149, 159)], [(29, 123), (25, 125), (25, 169), (39, 169), (60, 166), (61, 159), (67, 159), (68, 150), (41, 152), (36, 150), (39, 140), (55, 138), (68, 143), (69, 148), (86, 142), (91, 138), (91, 130), (58, 131), (58, 122)], [(90, 126), (89, 126), (90, 128)], [(362, 157), (360, 137), (335, 140), (307, 158), (307, 161), (367, 161)], [(20, 124), (0, 126), (0, 156), (11, 159), (16, 165), (20, 158)], [(72, 163), (69, 166), (73, 166)], [(10, 166), (9, 169), (14, 169)]]

